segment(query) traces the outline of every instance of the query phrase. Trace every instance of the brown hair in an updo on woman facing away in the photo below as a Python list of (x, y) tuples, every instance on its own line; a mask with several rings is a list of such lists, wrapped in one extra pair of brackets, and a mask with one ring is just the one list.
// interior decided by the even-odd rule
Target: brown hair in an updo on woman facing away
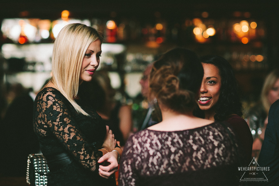
[(154, 62), (150, 95), (176, 112), (193, 111), (202, 78), (203, 68), (197, 55), (184, 48), (175, 48)]

